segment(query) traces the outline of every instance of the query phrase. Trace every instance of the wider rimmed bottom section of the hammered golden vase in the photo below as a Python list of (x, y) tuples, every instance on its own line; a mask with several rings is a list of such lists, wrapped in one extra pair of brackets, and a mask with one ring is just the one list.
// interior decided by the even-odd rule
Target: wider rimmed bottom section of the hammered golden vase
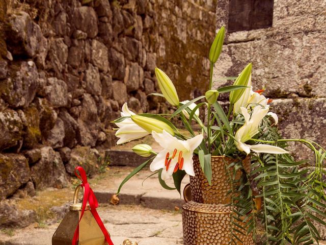
[[(232, 207), (215, 204), (202, 204), (193, 201), (182, 206), (183, 244), (184, 245), (226, 245), (232, 243), (230, 228)], [(236, 219), (235, 223), (240, 223)], [(243, 226), (243, 224), (241, 224)], [(234, 226), (234, 225), (233, 225)], [(254, 245), (252, 234), (235, 234), (242, 242), (233, 237), (238, 245)]]

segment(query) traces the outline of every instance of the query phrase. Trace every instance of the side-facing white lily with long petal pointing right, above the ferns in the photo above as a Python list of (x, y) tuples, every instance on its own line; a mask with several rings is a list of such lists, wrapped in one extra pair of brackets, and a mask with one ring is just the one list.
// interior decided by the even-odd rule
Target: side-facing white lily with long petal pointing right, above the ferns
[(261, 120), (268, 112), (268, 108), (261, 108), (260, 106), (256, 106), (253, 110), (253, 113), (248, 113), (248, 110), (244, 107), (240, 108), (242, 115), (244, 116), (244, 125), (235, 133), (236, 139), (236, 148), (241, 152), (246, 152), (247, 154), (250, 151), (256, 153), (271, 153), (271, 154), (284, 154), (288, 153), (282, 148), (277, 146), (269, 145), (269, 144), (255, 144), (250, 145), (246, 144), (246, 141), (254, 137), (258, 132), (258, 128), (260, 126)]

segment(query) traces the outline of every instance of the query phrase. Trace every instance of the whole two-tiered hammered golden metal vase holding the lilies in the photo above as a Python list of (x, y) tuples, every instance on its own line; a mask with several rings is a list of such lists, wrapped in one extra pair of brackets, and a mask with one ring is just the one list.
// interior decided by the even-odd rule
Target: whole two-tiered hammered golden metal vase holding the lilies
[[(227, 166), (234, 159), (228, 157), (212, 157), (212, 184), (209, 185), (201, 169), (198, 157), (194, 157), (195, 177), (190, 178), (191, 199), (182, 206), (183, 244), (184, 245), (226, 245), (236, 244), (254, 245), (252, 234), (235, 235), (242, 241), (238, 241), (232, 235), (234, 224), (244, 224), (232, 219), (232, 206), (228, 192), (231, 188)], [(243, 160), (246, 170), (249, 170), (250, 159)], [(240, 178), (241, 171), (236, 173)], [(246, 232), (243, 232), (246, 234)], [(234, 243), (233, 243), (234, 244)]]

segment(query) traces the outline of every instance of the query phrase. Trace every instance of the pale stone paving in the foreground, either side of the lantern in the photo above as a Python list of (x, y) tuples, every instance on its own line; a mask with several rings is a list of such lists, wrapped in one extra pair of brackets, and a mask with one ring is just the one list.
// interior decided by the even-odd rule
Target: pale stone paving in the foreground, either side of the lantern
[[(115, 245), (127, 238), (139, 245), (183, 244), (180, 212), (128, 205), (102, 205), (98, 212)], [(58, 225), (44, 228), (32, 225), (14, 231), (11, 236), (0, 231), (0, 245), (50, 245)]]

